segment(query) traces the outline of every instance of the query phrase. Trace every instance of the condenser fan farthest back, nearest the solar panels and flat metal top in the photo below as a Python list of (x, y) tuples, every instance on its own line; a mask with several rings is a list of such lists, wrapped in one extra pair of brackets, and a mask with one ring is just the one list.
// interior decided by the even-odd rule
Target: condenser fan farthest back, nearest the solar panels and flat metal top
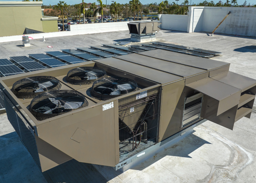
[(89, 85), (107, 77), (106, 71), (98, 67), (78, 67), (68, 71), (66, 81), (73, 85)]

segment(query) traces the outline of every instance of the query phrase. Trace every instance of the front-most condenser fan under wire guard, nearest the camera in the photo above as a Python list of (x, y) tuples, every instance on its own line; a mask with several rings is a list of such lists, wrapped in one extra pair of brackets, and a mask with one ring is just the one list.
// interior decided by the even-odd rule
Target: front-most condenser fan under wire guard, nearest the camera
[(60, 90), (34, 97), (29, 105), (29, 111), (41, 121), (87, 106), (88, 102), (82, 93)]

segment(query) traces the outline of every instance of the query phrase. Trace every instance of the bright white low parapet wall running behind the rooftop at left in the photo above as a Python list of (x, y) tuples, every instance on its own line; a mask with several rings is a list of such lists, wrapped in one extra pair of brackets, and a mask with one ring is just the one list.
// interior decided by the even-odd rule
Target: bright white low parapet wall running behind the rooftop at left
[[(125, 31), (125, 30), (129, 30), (127, 23), (128, 22), (75, 24), (70, 26), (71, 27), (70, 31), (26, 34), (26, 36), (29, 36), (30, 39), (42, 38), (43, 40), (43, 36), (44, 38), (52, 38), (52, 37), (73, 36), (73, 35), (80, 35), (80, 34)], [(22, 36), (23, 35), (0, 37), (0, 43), (9, 42), (9, 41), (22, 41)]]

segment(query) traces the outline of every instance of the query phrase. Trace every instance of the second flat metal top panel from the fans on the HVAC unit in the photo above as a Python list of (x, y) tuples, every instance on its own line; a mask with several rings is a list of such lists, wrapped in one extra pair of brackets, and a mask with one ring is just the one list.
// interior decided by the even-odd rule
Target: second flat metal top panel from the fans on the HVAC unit
[(197, 69), (197, 68), (186, 66), (186, 65), (176, 64), (176, 63), (164, 61), (161, 59), (155, 59), (152, 57), (146, 57), (140, 54), (122, 55), (115, 58), (123, 59), (139, 65), (144, 65), (146, 67), (150, 67), (156, 70), (161, 70), (163, 72), (167, 72), (173, 75), (178, 75), (184, 78), (206, 72), (206, 70)]

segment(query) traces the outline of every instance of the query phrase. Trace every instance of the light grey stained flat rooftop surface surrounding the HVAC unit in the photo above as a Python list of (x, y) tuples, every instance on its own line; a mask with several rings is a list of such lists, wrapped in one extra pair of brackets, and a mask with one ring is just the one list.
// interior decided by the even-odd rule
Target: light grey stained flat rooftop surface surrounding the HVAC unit
[[(33, 39), (30, 41), (32, 47), (27, 48), (21, 47), (21, 41), (0, 43), (0, 59), (121, 40), (129, 41), (129, 37), (129, 31), (120, 31), (46, 38), (46, 42)], [(203, 32), (185, 33), (162, 30), (157, 34), (157, 39), (222, 52), (221, 56), (208, 61), (214, 59), (230, 63), (230, 71), (256, 78), (256, 38), (218, 34), (211, 37)], [(251, 119), (240, 119), (234, 124), (233, 131), (207, 121), (194, 128), (191, 133), (181, 136), (181, 140), (175, 140), (163, 151), (126, 172), (115, 171), (112, 167), (71, 160), (42, 174), (22, 145), (6, 114), (1, 114), (0, 144), (4, 148), (1, 148), (0, 152), (0, 181), (3, 183), (20, 182), (20, 180), (37, 183), (255, 182), (256, 146), (253, 145), (256, 139), (255, 121), (256, 108), (253, 108)]]

